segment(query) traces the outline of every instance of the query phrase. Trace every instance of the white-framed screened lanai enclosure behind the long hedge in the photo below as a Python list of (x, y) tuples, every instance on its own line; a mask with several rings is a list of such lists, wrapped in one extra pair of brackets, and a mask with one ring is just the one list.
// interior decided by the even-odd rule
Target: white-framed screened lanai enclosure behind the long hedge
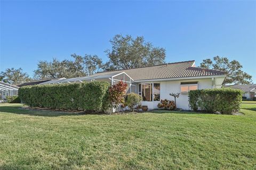
[(111, 83), (111, 85), (115, 85), (119, 81), (122, 81), (127, 83), (128, 85), (126, 93), (136, 93), (136, 86), (134, 84), (134, 80), (125, 72), (100, 72), (86, 77), (62, 78), (57, 80), (54, 79), (41, 84), (82, 83), (92, 81), (106, 81)]

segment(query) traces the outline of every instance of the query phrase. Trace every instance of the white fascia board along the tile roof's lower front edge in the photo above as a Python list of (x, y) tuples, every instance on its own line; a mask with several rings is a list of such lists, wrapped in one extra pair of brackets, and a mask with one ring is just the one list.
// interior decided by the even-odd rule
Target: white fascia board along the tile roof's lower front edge
[(217, 76), (196, 76), (196, 77), (178, 77), (178, 78), (161, 78), (161, 79), (146, 79), (146, 80), (135, 80), (135, 83), (140, 82), (164, 82), (164, 81), (175, 81), (175, 80), (191, 80), (191, 79), (205, 79), (205, 78), (217, 78), (217, 77), (227, 77), (227, 75), (217, 75)]

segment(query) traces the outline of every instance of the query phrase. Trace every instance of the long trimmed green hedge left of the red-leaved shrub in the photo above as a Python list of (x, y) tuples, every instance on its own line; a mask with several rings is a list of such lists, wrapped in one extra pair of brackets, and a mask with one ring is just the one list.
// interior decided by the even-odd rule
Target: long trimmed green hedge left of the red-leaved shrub
[(108, 82), (23, 86), (19, 96), (30, 107), (104, 111), (109, 86)]

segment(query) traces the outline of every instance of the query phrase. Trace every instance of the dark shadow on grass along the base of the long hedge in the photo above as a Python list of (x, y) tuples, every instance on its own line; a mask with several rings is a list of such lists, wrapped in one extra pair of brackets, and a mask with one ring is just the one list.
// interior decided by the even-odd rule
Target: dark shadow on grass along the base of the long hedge
[(53, 110), (36, 110), (36, 109), (25, 109), (18, 106), (1, 106), (0, 112), (7, 112), (10, 114), (19, 114), (19, 115), (29, 115), (29, 116), (44, 116), (44, 117), (93, 115), (93, 114), (85, 113), (83, 111), (67, 112), (67, 111), (53, 111)]

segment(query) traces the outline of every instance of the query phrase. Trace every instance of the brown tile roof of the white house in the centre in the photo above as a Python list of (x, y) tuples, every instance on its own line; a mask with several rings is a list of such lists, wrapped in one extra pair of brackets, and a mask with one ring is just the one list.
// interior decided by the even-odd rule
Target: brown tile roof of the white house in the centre
[(105, 74), (109, 74), (110, 72), (118, 73), (120, 71), (125, 72), (133, 80), (215, 76), (215, 75), (227, 74), (227, 72), (225, 71), (197, 68), (195, 67), (195, 61), (192, 60), (192, 61), (166, 63), (166, 64), (160, 64), (156, 66), (99, 72), (92, 76), (105, 75)]

